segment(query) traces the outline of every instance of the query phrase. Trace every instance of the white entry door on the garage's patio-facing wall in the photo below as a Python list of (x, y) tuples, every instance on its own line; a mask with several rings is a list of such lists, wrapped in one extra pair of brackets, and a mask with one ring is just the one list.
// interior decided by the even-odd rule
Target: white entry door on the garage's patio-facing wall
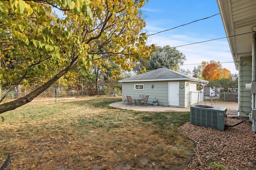
[(169, 82), (169, 105), (179, 106), (179, 82)]

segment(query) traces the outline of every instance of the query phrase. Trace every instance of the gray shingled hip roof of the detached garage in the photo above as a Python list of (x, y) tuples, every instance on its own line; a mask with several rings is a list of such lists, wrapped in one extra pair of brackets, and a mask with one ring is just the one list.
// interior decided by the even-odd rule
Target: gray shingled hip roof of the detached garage
[(168, 68), (158, 68), (143, 74), (119, 80), (118, 82), (148, 82), (148, 81), (170, 81), (170, 80), (191, 80), (194, 82), (208, 83), (206, 80), (199, 80), (192, 76), (170, 70)]

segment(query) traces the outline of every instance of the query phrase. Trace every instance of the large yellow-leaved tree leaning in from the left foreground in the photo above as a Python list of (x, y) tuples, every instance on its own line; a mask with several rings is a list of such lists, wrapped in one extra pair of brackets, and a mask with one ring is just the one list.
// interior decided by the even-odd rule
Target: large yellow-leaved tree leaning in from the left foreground
[[(148, 57), (140, 8), (145, 0), (10, 0), (0, 1), (0, 88), (18, 84), (42, 86), (25, 97), (0, 105), (0, 113), (20, 107), (61, 76), (93, 60), (111, 60), (119, 69)], [(64, 12), (63, 18), (52, 13)], [(107, 53), (107, 57), (101, 57)], [(98, 57), (96, 57), (98, 55)], [(94, 59), (92, 59), (94, 56)], [(117, 77), (119, 70), (112, 70)], [(8, 94), (8, 93), (7, 93)], [(5, 96), (4, 96), (5, 97)], [(4, 99), (4, 97), (0, 100)]]

